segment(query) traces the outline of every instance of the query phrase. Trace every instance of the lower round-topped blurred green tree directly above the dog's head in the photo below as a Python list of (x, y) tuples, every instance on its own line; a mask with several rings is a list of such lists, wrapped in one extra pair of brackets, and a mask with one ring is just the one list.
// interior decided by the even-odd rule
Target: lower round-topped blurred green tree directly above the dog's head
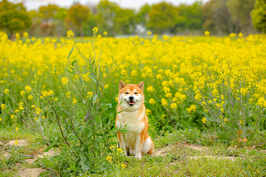
[(133, 10), (117, 8), (114, 24), (117, 34), (132, 34), (136, 25), (136, 17)]

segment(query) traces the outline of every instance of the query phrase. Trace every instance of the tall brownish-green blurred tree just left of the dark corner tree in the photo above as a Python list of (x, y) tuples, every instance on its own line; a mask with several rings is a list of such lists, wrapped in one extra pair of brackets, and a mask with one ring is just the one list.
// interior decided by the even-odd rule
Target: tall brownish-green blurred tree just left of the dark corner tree
[[(227, 0), (226, 5), (234, 23), (239, 23), (244, 33), (253, 32), (250, 12), (254, 9), (256, 0)], [(241, 31), (234, 31), (236, 33)]]

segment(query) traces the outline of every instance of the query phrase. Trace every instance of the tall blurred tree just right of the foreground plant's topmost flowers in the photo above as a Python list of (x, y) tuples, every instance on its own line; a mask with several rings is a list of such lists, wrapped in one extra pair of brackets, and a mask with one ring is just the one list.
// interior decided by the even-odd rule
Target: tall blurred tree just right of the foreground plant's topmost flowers
[(108, 0), (101, 0), (99, 2), (96, 7), (96, 21), (99, 33), (107, 31), (110, 35), (115, 34), (115, 30), (113, 28), (114, 19), (119, 9), (120, 7), (114, 2), (109, 2)]

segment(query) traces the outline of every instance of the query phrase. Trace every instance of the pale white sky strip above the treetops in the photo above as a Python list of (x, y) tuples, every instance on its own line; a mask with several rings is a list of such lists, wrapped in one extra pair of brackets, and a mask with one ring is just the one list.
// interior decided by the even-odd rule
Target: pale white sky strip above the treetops
[[(74, 1), (78, 1), (83, 5), (97, 5), (100, 0), (9, 0), (9, 1), (12, 2), (24, 1), (24, 6), (27, 8), (27, 10), (36, 10), (40, 6), (47, 5), (49, 3), (57, 4), (61, 7), (68, 8), (73, 4)], [(196, 2), (196, 0), (109, 0), (109, 1), (116, 2), (120, 7), (132, 8), (132, 9), (138, 9), (145, 3), (151, 5), (162, 1), (170, 2), (173, 5), (179, 5), (181, 3), (193, 4), (194, 2)], [(209, 0), (199, 0), (199, 1), (206, 3)]]

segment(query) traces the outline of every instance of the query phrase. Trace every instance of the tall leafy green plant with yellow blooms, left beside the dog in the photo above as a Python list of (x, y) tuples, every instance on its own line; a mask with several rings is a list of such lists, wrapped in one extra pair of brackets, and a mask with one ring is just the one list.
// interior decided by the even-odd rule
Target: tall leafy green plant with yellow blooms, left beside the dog
[[(71, 39), (73, 47), (67, 56), (66, 77), (60, 79), (57, 74), (58, 66), (54, 66), (52, 73), (58, 79), (61, 95), (55, 97), (52, 90), (40, 90), (39, 84), (33, 89), (29, 86), (25, 88), (21, 103), (17, 103), (10, 95), (12, 100), (21, 105), (23, 109), (18, 120), (28, 125), (46, 140), (49, 146), (45, 151), (58, 144), (65, 145), (62, 150), (63, 155), (54, 157), (61, 163), (61, 170), (57, 170), (59, 173), (77, 174), (80, 171), (82, 173), (89, 170), (94, 171), (92, 159), (99, 156), (104, 157), (106, 153), (111, 151), (109, 147), (116, 144), (112, 139), (116, 137), (118, 131), (113, 126), (117, 112), (110, 117), (103, 117), (104, 111), (110, 109), (111, 104), (102, 99), (103, 93), (108, 89), (105, 86), (115, 64), (112, 57), (106, 62), (100, 60), (106, 39), (103, 39), (102, 47), (98, 53), (95, 48), (97, 31), (98, 28), (93, 29), (89, 57), (86, 57), (79, 50), (73, 38), (74, 33), (71, 30), (67, 31), (67, 36)], [(83, 82), (84, 74), (80, 71), (79, 61), (71, 59), (74, 49), (86, 62), (87, 71), (85, 72), (89, 73), (88, 75), (93, 81), (94, 87), (91, 87), (94, 88), (93, 90), (87, 90)], [(74, 90), (78, 90), (78, 97), (74, 96)], [(86, 112), (87, 116), (83, 120)], [(54, 137), (49, 138), (45, 133), (49, 123), (46, 117), (57, 125), (53, 128), (52, 135)]]

